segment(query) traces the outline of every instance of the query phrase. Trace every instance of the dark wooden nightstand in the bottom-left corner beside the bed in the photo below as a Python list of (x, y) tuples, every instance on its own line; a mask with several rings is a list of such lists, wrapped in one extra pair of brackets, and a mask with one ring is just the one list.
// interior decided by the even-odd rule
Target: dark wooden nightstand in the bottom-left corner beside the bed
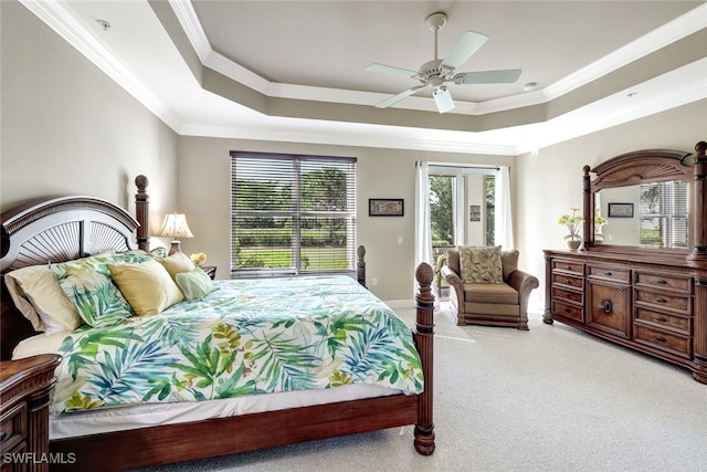
[(0, 361), (2, 472), (49, 471), (50, 391), (60, 361), (56, 355)]

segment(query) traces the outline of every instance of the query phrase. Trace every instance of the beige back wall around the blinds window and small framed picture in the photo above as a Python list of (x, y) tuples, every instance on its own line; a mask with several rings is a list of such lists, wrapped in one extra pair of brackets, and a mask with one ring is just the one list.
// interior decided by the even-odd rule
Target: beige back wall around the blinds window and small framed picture
[[(205, 251), (219, 268), (230, 270), (230, 151), (316, 154), (358, 159), (358, 242), (367, 250), (369, 287), (383, 300), (411, 300), (414, 273), (415, 160), (511, 165), (513, 158), (471, 156), (350, 146), (184, 137), (179, 143), (180, 208), (189, 217), (194, 239), (187, 251)], [(369, 198), (404, 199), (404, 216), (368, 216)], [(398, 238), (402, 237), (402, 244)], [(378, 285), (371, 286), (371, 280)]]

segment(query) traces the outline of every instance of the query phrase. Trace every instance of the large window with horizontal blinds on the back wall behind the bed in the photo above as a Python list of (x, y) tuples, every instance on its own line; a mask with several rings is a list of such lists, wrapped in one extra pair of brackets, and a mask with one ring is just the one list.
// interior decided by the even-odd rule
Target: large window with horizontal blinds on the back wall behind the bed
[(356, 159), (231, 153), (231, 274), (356, 270)]

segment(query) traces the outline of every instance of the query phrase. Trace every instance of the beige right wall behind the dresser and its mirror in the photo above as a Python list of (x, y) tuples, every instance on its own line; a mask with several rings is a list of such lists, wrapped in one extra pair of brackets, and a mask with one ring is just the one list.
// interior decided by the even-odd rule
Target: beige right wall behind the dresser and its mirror
[[(540, 279), (535, 303), (544, 298), (544, 249), (563, 248), (564, 228), (557, 224), (570, 207), (582, 208), (582, 167), (639, 149), (695, 151), (707, 139), (707, 101), (582, 136), (516, 158), (515, 242), (520, 265)], [(611, 222), (610, 222), (611, 224)]]

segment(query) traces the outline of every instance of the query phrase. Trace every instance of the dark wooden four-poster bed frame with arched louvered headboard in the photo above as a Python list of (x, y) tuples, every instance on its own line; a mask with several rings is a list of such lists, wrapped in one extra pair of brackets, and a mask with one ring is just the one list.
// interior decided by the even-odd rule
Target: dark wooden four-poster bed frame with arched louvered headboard
[[(63, 262), (108, 249), (126, 251), (149, 248), (148, 180), (135, 179), (136, 217), (93, 197), (61, 197), (33, 201), (2, 213), (2, 274), (27, 265)], [(358, 252), (357, 277), (366, 283), (366, 251)], [(433, 270), (420, 264), (415, 271), (415, 346), (424, 374), (424, 392), (419, 396), (342, 401), (272, 412), (177, 424), (161, 424), (53, 440), (52, 454), (72, 453), (71, 470), (123, 470), (180, 462), (221, 454), (252, 451), (315, 439), (414, 424), (414, 448), (423, 455), (434, 452), (433, 417)], [(17, 344), (36, 334), (14, 307), (4, 279), (0, 313), (2, 359), (9, 359)], [(34, 431), (36, 433), (36, 431)], [(32, 451), (30, 451), (32, 452)], [(52, 465), (60, 469), (57, 464)]]

